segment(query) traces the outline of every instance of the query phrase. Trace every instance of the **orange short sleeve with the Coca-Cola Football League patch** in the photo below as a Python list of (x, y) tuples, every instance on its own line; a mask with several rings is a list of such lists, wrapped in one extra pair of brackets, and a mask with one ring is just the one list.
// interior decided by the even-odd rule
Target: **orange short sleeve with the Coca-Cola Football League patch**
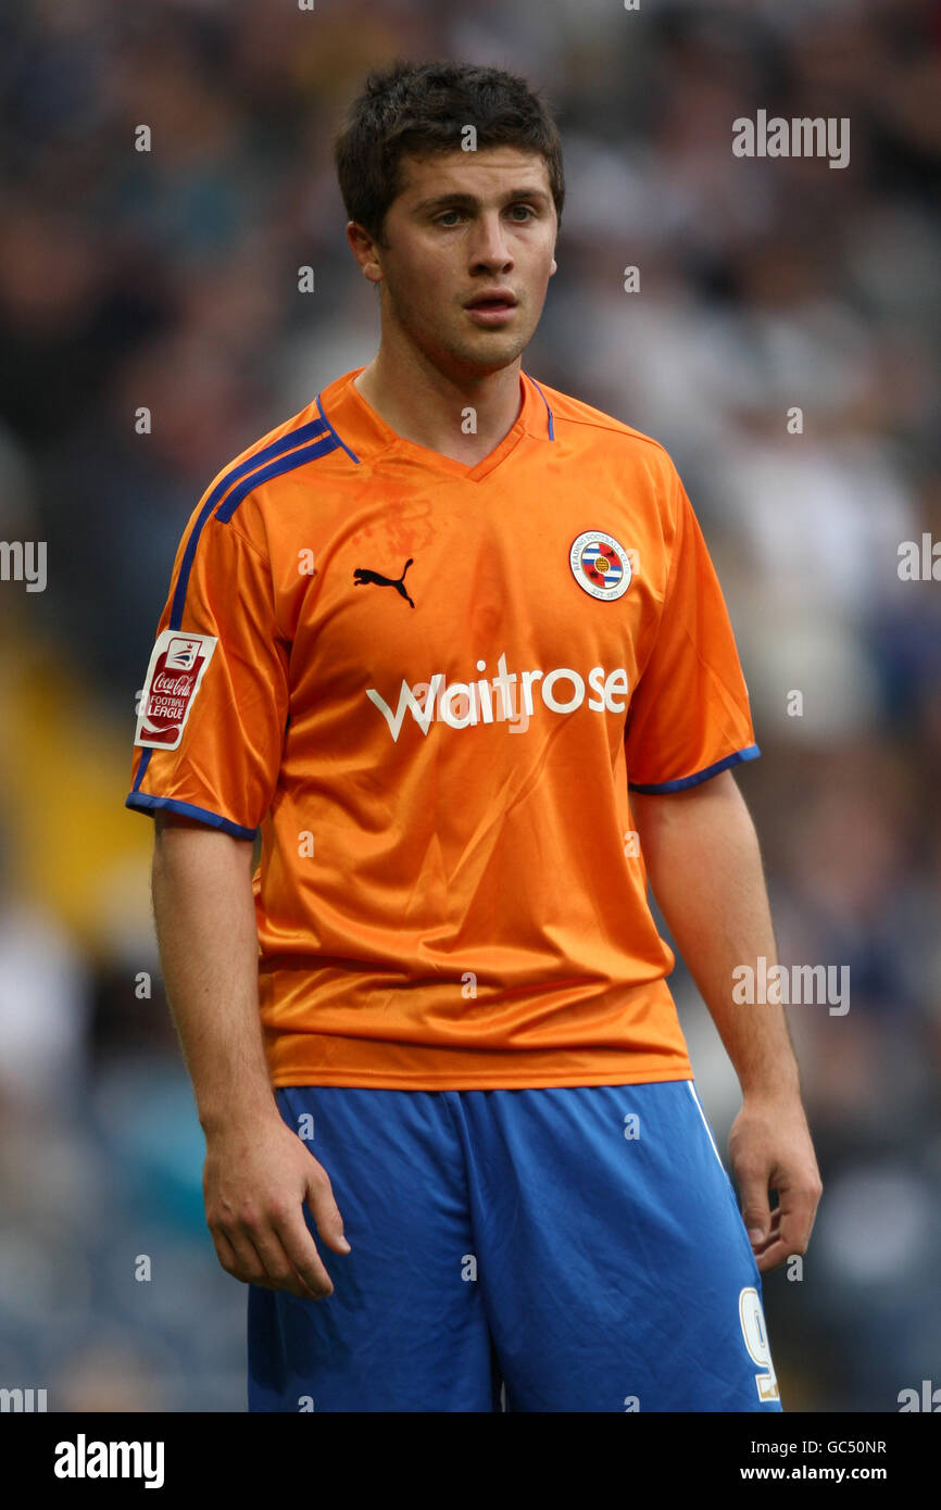
[(254, 838), (278, 782), (287, 657), (266, 556), (231, 522), (196, 513), (139, 701), (125, 806)]

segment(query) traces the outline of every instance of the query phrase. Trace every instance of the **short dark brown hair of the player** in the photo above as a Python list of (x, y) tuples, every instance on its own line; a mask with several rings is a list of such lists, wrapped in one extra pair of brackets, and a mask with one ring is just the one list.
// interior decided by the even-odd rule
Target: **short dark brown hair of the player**
[(402, 157), (453, 153), (473, 125), (477, 148), (541, 153), (562, 222), (562, 140), (548, 106), (526, 79), (500, 68), (397, 57), (372, 69), (334, 136), (334, 163), (350, 220), (382, 245), (385, 213), (402, 192)]

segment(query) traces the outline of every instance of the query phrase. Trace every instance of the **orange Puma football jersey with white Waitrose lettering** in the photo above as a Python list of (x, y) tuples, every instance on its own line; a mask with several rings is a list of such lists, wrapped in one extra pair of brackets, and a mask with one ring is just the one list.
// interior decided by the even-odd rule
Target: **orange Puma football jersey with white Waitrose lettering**
[(260, 829), (275, 1086), (689, 1078), (628, 781), (760, 752), (674, 464), (520, 373), (468, 467), (397, 436), (359, 371), (195, 509), (127, 805)]

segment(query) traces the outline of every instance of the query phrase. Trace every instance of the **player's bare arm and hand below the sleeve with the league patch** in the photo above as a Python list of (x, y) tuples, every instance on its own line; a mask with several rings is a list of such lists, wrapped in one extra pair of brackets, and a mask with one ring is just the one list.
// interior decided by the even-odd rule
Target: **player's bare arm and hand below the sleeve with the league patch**
[(157, 812), (153, 900), (166, 994), (205, 1132), (202, 1190), (219, 1262), (245, 1284), (332, 1293), (304, 1222), (349, 1252), (326, 1170), (281, 1119), (258, 1012), (252, 844)]

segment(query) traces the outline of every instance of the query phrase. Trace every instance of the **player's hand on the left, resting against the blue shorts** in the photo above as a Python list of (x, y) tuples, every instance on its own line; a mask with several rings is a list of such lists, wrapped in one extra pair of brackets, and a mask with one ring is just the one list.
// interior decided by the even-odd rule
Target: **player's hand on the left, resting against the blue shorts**
[(304, 1220), (335, 1253), (349, 1253), (329, 1176), (278, 1111), (225, 1123), (205, 1139), (205, 1222), (222, 1268), (243, 1284), (302, 1300), (334, 1293)]

